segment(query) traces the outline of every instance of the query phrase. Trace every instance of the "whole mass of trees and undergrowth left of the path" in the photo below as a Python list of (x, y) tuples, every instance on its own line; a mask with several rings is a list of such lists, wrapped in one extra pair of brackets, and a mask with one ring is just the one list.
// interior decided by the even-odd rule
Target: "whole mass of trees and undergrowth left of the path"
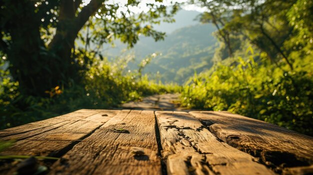
[(113, 39), (129, 47), (139, 35), (163, 39), (151, 24), (171, 22), (174, 3), (168, 10), (159, 1), (1, 0), (0, 9), (0, 128), (170, 90), (99, 49)]

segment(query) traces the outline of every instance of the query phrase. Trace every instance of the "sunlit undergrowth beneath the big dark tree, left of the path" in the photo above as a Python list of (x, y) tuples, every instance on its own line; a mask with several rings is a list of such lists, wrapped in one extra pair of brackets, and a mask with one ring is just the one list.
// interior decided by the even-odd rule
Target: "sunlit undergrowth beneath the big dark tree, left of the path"
[(109, 62), (106, 58), (101, 60), (93, 54), (78, 52), (76, 59), (86, 59), (84, 57), (87, 56), (93, 60), (86, 65), (82, 83), (72, 83), (68, 88), (55, 87), (48, 92), (52, 93), (49, 97), (24, 96), (18, 92), (18, 83), (4, 76), (0, 84), (0, 128), (43, 120), (81, 108), (118, 108), (120, 103), (179, 88), (174, 84), (156, 83), (147, 75), (140, 77), (137, 71), (128, 72), (129, 57)]

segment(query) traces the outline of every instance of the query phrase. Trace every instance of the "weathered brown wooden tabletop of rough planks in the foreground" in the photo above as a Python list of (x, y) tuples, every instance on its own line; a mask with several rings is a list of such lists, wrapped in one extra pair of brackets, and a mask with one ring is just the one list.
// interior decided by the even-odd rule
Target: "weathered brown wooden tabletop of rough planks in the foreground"
[[(52, 175), (313, 174), (312, 137), (228, 112), (82, 109), (0, 131), (7, 140), (0, 155), (59, 158), (37, 161)], [(19, 164), (2, 160), (0, 174)]]

